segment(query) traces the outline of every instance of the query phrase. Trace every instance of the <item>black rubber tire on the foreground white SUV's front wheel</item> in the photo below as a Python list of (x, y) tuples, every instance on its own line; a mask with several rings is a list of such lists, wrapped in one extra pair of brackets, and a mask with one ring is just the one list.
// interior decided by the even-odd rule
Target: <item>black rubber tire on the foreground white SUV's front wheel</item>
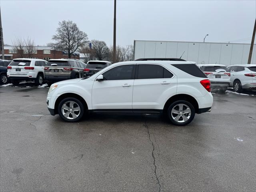
[[(75, 116), (78, 115), (76, 118), (74, 119), (69, 119), (69, 118), (73, 118), (73, 112), (70, 113), (69, 110), (71, 111), (71, 107), (68, 102), (70, 101), (73, 101), (75, 102), (76, 104), (73, 105), (74, 108), (77, 108), (77, 105), (80, 107), (80, 113), (78, 114), (78, 112), (74, 112)], [(68, 113), (68, 118), (66, 118), (63, 114), (62, 114), (62, 105), (65, 104), (67, 102), (67, 107), (70, 107), (68, 108), (69, 110), (64, 110), (64, 112)], [(73, 98), (73, 97), (68, 97), (68, 98), (65, 98), (63, 99), (59, 105), (58, 105), (58, 113), (59, 113), (59, 116), (60, 118), (62, 118), (64, 121), (66, 122), (78, 122), (83, 116), (84, 116), (84, 106), (82, 104), (82, 102), (76, 98)]]

